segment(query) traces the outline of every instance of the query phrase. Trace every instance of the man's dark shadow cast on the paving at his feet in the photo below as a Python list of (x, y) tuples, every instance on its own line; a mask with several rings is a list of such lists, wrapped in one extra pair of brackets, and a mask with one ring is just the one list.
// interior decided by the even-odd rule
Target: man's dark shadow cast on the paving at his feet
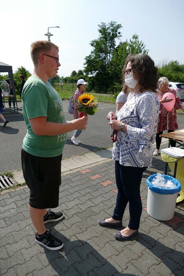
[(60, 233), (57, 234), (57, 237), (64, 241), (63, 250), (50, 251), (44, 248), (44, 251), (49, 264), (58, 275), (136, 276), (136, 274), (120, 273), (86, 241), (70, 241)]

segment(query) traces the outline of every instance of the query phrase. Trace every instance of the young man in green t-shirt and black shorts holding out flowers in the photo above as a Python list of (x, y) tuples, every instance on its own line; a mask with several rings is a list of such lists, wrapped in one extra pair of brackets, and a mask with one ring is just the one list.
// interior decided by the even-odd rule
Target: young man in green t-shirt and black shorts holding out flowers
[(36, 228), (36, 242), (50, 250), (63, 247), (62, 241), (44, 224), (63, 218), (62, 212), (47, 208), (59, 206), (61, 159), (67, 132), (87, 127), (87, 116), (66, 121), (59, 94), (48, 79), (59, 69), (59, 48), (50, 41), (31, 44), (34, 72), (22, 91), (22, 110), (28, 129), (22, 145), (22, 171), (30, 189), (29, 213)]

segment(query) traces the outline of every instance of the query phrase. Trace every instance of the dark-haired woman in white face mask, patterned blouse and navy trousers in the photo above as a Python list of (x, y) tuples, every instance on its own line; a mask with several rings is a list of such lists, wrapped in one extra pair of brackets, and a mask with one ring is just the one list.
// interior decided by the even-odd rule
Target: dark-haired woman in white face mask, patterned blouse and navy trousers
[(98, 223), (106, 227), (121, 227), (125, 208), (129, 203), (128, 226), (115, 232), (118, 240), (138, 235), (142, 202), (140, 183), (143, 172), (151, 166), (153, 147), (159, 116), (159, 99), (156, 95), (159, 79), (154, 61), (145, 54), (129, 56), (125, 63), (125, 83), (133, 89), (128, 101), (117, 115), (112, 111), (113, 120), (109, 125), (117, 131), (113, 144), (117, 201), (113, 216)]

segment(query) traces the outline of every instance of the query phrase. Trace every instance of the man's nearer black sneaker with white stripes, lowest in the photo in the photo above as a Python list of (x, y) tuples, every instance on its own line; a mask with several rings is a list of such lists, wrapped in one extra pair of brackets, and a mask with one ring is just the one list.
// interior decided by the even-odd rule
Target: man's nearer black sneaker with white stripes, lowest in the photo
[(51, 234), (51, 229), (47, 230), (46, 234), (43, 234), (41, 237), (38, 237), (36, 232), (35, 240), (50, 250), (58, 250), (63, 247), (62, 241)]

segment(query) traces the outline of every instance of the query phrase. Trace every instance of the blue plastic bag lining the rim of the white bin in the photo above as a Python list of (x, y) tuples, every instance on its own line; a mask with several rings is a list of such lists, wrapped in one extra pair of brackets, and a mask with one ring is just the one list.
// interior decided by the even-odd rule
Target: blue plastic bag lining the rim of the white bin
[(153, 180), (153, 178), (156, 176), (156, 174), (153, 174), (151, 176), (149, 176), (146, 180), (146, 184), (148, 185), (148, 188), (152, 191), (152, 192), (155, 192), (157, 194), (176, 194), (178, 192), (181, 191), (182, 189), (182, 186), (180, 184), (180, 182), (175, 179), (174, 177), (172, 176), (169, 176), (169, 175), (165, 175), (165, 174), (162, 174), (162, 176), (164, 177), (164, 179), (167, 180), (171, 180), (174, 185), (176, 185), (175, 188), (173, 189), (167, 189), (167, 188), (163, 188), (163, 187), (158, 187), (158, 186), (155, 186), (151, 183), (151, 181)]

